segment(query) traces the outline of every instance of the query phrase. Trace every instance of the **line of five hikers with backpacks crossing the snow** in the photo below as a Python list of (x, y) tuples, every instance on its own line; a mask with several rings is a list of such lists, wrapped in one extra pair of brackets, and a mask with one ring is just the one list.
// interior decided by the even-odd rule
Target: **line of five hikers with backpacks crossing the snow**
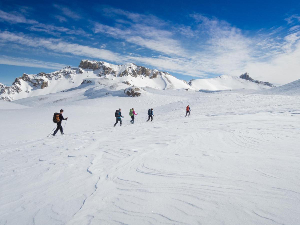
[[(187, 106), (188, 116), (190, 116), (190, 111), (191, 111), (191, 108), (188, 105)], [(67, 120), (68, 118), (64, 118), (63, 115), (62, 115), (63, 113), (64, 113), (64, 110), (59, 110), (59, 113), (54, 113), (54, 115), (53, 115), (53, 122), (57, 124), (56, 130), (52, 134), (53, 136), (55, 136), (55, 134), (57, 133), (58, 130), (60, 130), (61, 134), (64, 134), (63, 128), (61, 126), (61, 122), (63, 120)], [(187, 116), (187, 113), (185, 114), (185, 116)], [(129, 110), (129, 116), (131, 117), (130, 124), (134, 124), (135, 116), (137, 116), (137, 113), (135, 113), (134, 108), (132, 108), (132, 109)], [(153, 120), (153, 116), (154, 116), (153, 109), (151, 108), (151, 109), (148, 110), (148, 120), (146, 120), (146, 122), (148, 122), (150, 119), (152, 121)], [(116, 110), (115, 117), (116, 117), (116, 123), (113, 126), (115, 127), (118, 124), (119, 121), (120, 121), (120, 126), (122, 126), (122, 119), (124, 118), (124, 116), (122, 116), (121, 109)]]

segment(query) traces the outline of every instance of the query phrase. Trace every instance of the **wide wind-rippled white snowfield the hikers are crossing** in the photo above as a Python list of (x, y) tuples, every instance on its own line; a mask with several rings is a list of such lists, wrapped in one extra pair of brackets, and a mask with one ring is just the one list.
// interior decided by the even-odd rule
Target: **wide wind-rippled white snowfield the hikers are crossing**
[(0, 224), (299, 224), (299, 96), (144, 91), (0, 105)]

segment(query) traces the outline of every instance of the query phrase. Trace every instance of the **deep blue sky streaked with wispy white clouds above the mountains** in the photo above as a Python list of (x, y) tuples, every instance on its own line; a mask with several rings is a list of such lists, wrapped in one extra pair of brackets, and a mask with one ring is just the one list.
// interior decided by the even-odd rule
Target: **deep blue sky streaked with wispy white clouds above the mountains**
[(300, 1), (1, 1), (0, 82), (81, 59), (179, 79), (300, 78)]

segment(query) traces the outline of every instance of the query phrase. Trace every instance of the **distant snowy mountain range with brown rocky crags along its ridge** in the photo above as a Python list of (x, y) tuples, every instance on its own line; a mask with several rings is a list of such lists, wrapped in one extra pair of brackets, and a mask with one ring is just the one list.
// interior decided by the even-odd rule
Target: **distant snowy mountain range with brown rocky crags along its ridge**
[[(104, 61), (82, 60), (79, 67), (65, 67), (52, 73), (26, 74), (18, 77), (12, 86), (0, 83), (0, 99), (14, 101), (49, 93), (60, 92), (85, 85), (108, 85), (110, 90), (128, 96), (139, 96), (142, 87), (166, 89), (224, 90), (224, 89), (255, 89), (262, 90), (273, 87), (269, 82), (254, 81), (248, 73), (237, 76), (223, 75), (210, 79), (193, 79), (190, 82), (177, 79), (170, 73), (134, 63), (114, 65)], [(113, 86), (113, 87), (112, 87)], [(103, 88), (103, 86), (101, 86)], [(105, 88), (104, 88), (105, 89)], [(121, 90), (121, 91), (120, 91)], [(100, 91), (100, 90), (98, 90)], [(103, 90), (102, 90), (103, 91)]]

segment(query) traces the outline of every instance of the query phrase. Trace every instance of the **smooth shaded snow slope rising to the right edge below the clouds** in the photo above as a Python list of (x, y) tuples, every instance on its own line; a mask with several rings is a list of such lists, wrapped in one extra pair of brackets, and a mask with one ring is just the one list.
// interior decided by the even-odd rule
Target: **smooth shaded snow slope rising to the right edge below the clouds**
[(258, 93), (267, 95), (300, 95), (300, 79)]

